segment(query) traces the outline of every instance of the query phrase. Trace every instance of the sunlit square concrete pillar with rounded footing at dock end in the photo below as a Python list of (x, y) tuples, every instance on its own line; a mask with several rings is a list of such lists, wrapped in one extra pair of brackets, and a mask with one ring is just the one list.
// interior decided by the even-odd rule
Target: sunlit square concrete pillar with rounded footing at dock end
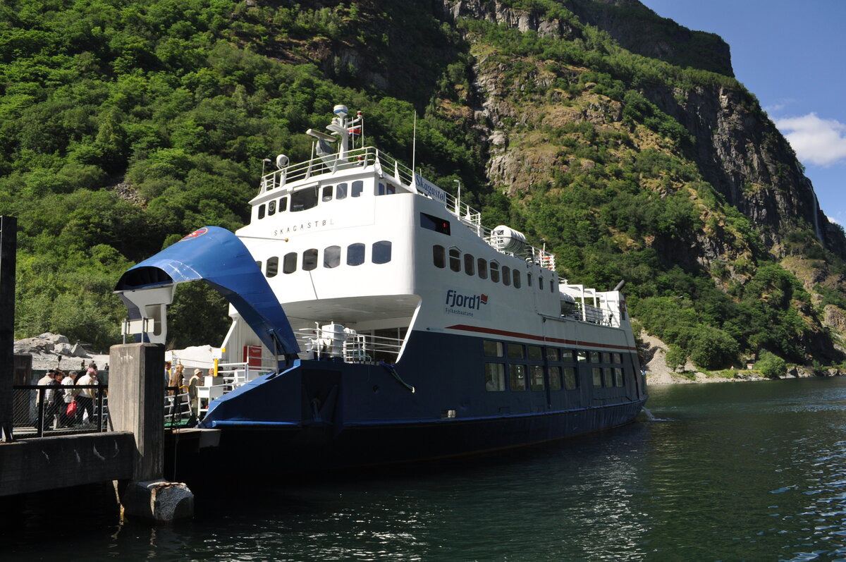
[(113, 345), (108, 405), (115, 431), (135, 433), (133, 482), (120, 493), (124, 513), (154, 521), (194, 515), (194, 494), (166, 482), (164, 471), (164, 346)]

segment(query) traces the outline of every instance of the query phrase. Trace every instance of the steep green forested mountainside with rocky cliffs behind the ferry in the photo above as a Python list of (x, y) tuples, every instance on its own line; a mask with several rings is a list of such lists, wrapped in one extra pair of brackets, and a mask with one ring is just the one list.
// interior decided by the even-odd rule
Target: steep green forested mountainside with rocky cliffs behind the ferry
[[(117, 343), (120, 274), (239, 228), (262, 159), (308, 157), (336, 103), (409, 163), (416, 112), (423, 174), (546, 240), (571, 282), (626, 279), (634, 317), (698, 366), (842, 361), (842, 229), (728, 46), (635, 0), (3, 3), (16, 337)], [(201, 284), (168, 317), (177, 346), (228, 326)]]

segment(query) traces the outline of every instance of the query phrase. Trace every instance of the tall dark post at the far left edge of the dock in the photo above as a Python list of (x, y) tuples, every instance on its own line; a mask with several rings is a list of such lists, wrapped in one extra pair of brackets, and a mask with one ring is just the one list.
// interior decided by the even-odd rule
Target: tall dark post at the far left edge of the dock
[(0, 216), (0, 440), (12, 434), (14, 379), (14, 268), (18, 250), (18, 221)]

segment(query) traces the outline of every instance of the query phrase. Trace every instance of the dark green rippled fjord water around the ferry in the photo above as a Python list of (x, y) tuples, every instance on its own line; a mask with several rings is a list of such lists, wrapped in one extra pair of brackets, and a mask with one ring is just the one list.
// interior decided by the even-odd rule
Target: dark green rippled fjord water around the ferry
[(46, 522), (3, 550), (63, 560), (846, 559), (846, 377), (652, 387), (648, 406), (650, 421), (399, 474), (256, 482), (245, 464), (198, 490), (194, 521), (77, 521), (64, 535)]

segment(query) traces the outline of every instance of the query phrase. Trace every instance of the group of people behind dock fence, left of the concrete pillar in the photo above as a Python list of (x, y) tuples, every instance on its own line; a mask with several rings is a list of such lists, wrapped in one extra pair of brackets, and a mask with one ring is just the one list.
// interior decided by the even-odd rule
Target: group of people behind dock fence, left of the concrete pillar
[[(85, 422), (87, 412), (88, 422), (96, 423), (94, 413), (94, 399), (97, 396), (96, 388), (80, 388), (99, 385), (97, 380), (97, 366), (91, 363), (85, 372), (70, 371), (64, 372), (61, 369), (47, 371), (38, 381), (38, 386), (46, 386), (47, 390), (36, 394), (36, 409), (39, 406), (41, 396), (44, 399), (44, 429), (52, 429), (55, 423), (56, 428), (72, 427), (82, 425)], [(75, 406), (72, 406), (74, 405)], [(73, 411), (75, 410), (75, 411)], [(36, 416), (33, 426), (39, 428), (40, 420)]]

